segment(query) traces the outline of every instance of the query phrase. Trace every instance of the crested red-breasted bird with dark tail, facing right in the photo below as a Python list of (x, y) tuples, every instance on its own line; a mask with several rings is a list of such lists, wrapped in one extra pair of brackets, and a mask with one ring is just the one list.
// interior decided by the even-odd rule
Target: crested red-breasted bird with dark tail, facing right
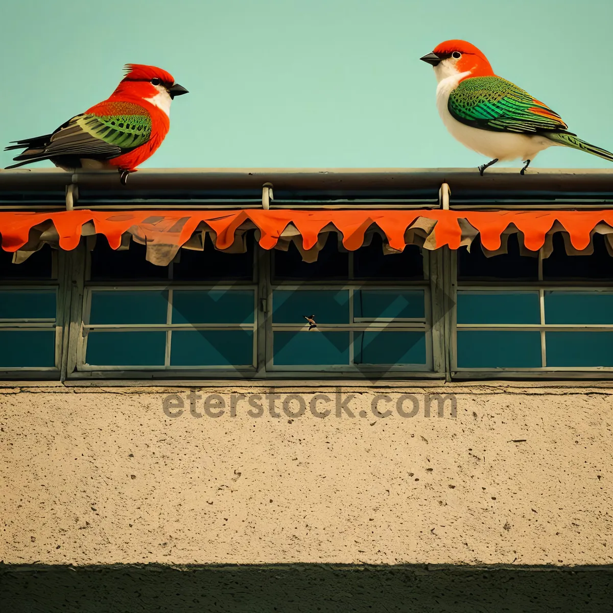
[(48, 159), (64, 170), (117, 169), (121, 183), (153, 155), (170, 128), (170, 102), (188, 90), (155, 66), (127, 64), (126, 75), (104, 102), (75, 115), (55, 132), (13, 141), (23, 149), (7, 169)]

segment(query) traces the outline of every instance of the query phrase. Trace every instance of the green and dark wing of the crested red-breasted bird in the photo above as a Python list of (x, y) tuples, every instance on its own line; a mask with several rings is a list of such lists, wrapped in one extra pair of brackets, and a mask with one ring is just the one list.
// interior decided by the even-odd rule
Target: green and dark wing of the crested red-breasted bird
[(58, 128), (45, 147), (48, 156), (112, 158), (146, 143), (151, 115), (138, 104), (102, 102)]

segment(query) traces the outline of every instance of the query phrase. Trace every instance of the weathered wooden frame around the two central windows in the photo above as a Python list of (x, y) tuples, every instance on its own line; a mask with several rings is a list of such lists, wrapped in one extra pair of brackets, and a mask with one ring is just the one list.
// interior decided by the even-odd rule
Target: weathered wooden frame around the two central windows
[[(440, 298), (443, 295), (443, 275), (441, 254), (436, 251), (422, 249), (424, 262), (424, 280), (394, 281), (394, 280), (341, 280), (341, 281), (272, 281), (273, 257), (275, 250), (262, 249), (257, 242), (254, 242), (254, 273), (252, 281), (176, 281), (172, 278), (164, 280), (122, 280), (122, 281), (91, 281), (89, 279), (89, 268), (91, 267), (91, 256), (89, 249), (86, 248), (86, 240), (75, 249), (73, 253), (75, 283), (72, 286), (72, 312), (70, 313), (70, 350), (67, 360), (68, 379), (168, 379), (168, 378), (189, 378), (192, 380), (208, 379), (286, 379), (295, 378), (297, 373), (303, 373), (304, 378), (333, 378), (338, 376), (348, 378), (402, 378), (402, 379), (444, 379), (444, 349), (443, 349), (443, 327), (444, 318), (442, 313), (435, 316), (434, 312), (437, 305), (441, 303), (439, 299), (434, 300), (433, 295), (438, 292)], [(352, 272), (352, 252), (349, 252), (349, 272)], [(80, 262), (80, 263), (79, 263)], [(172, 276), (172, 262), (169, 265), (169, 277)], [(426, 342), (426, 365), (356, 365), (348, 368), (348, 365), (335, 367), (291, 367), (272, 364), (272, 291), (273, 288), (300, 286), (303, 289), (317, 289), (322, 286), (338, 289), (340, 286), (360, 287), (364, 289), (424, 289), (425, 300), (425, 322), (403, 321), (396, 322), (394, 329), (398, 331), (424, 331)], [(125, 326), (104, 326), (101, 324), (89, 324), (84, 317), (89, 313), (91, 292), (94, 290), (106, 289), (126, 289), (131, 291), (151, 290), (170, 290), (170, 289), (220, 289), (221, 287), (236, 287), (254, 289), (254, 323), (253, 327), (249, 324), (249, 329), (254, 332), (254, 367), (246, 368), (219, 368), (211, 366), (197, 367), (173, 367), (168, 365), (161, 366), (131, 366), (131, 367), (100, 367), (97, 365), (86, 365), (86, 332), (96, 327), (110, 327), (115, 329), (135, 329), (139, 326), (126, 324)], [(172, 307), (169, 307), (172, 308)], [(434, 323), (436, 322), (436, 323)], [(180, 329), (174, 324), (143, 324), (139, 329)], [(183, 326), (192, 329), (190, 324)], [(211, 327), (213, 329), (223, 329), (227, 324), (203, 324), (197, 328)], [(232, 326), (236, 327), (236, 326)], [(379, 329), (390, 327), (390, 322), (353, 322), (348, 324), (352, 331), (361, 329)], [(307, 324), (308, 328), (308, 324)], [(244, 329), (244, 326), (241, 328)], [(172, 342), (172, 341), (171, 341)], [(168, 341), (166, 350), (166, 362), (168, 359)]]

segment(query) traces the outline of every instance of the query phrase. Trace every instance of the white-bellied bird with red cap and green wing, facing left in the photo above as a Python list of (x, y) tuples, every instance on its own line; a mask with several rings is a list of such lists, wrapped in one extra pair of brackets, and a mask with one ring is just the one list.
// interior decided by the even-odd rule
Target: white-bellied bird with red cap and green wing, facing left
[(485, 55), (465, 40), (446, 40), (421, 58), (434, 67), (436, 107), (451, 135), (498, 161), (521, 159), (522, 175), (539, 151), (554, 145), (587, 151), (613, 162), (613, 153), (590, 145), (558, 113), (514, 83), (494, 74)]

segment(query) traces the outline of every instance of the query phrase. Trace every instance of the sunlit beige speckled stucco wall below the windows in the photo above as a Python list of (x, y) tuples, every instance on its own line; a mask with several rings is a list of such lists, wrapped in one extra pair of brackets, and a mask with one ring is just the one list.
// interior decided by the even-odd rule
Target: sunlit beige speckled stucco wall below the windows
[[(200, 390), (202, 417), (185, 388), (0, 389), (0, 560), (613, 563), (610, 386), (346, 386), (354, 417), (328, 384), (273, 391), (280, 417), (253, 387)], [(424, 416), (436, 392), (456, 417)]]

